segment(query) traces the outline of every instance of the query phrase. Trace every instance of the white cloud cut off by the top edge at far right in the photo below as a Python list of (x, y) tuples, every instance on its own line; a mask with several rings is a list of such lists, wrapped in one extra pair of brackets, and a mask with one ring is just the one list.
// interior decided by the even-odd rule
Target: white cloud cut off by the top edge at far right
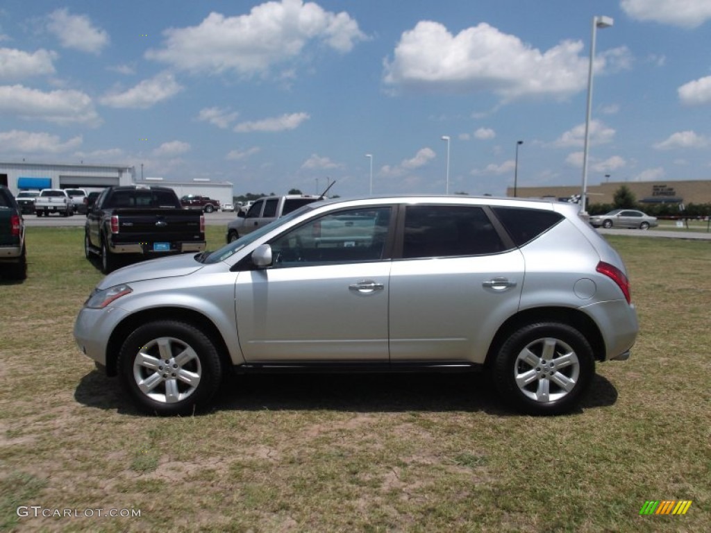
[(621, 8), (638, 21), (696, 28), (711, 18), (708, 0), (622, 0)]

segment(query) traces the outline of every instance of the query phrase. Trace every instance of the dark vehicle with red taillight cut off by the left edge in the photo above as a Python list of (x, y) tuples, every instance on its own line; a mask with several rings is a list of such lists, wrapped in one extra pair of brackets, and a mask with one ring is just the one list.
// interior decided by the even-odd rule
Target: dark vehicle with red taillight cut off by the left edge
[(27, 276), (25, 222), (15, 198), (4, 185), (0, 185), (0, 276)]

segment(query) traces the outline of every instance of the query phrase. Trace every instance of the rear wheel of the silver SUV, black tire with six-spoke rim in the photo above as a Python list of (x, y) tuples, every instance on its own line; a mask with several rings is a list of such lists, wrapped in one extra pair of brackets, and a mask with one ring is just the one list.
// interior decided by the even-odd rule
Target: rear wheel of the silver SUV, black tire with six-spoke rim
[(491, 370), (499, 394), (516, 409), (533, 415), (562, 414), (573, 409), (589, 387), (595, 360), (577, 329), (547, 322), (513, 333)]

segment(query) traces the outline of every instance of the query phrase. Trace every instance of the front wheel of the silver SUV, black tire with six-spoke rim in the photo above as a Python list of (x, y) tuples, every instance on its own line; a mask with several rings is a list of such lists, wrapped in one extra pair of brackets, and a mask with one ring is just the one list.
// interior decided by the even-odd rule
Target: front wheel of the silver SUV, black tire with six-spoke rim
[(151, 322), (134, 330), (121, 347), (118, 368), (134, 402), (160, 415), (204, 409), (223, 375), (220, 355), (208, 336), (178, 321)]

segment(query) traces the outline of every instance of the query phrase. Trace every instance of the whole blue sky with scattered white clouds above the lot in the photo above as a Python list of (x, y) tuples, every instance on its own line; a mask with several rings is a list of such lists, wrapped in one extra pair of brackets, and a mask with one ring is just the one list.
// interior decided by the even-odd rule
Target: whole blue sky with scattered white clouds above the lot
[(0, 160), (235, 194), (711, 178), (710, 0), (5, 0)]

